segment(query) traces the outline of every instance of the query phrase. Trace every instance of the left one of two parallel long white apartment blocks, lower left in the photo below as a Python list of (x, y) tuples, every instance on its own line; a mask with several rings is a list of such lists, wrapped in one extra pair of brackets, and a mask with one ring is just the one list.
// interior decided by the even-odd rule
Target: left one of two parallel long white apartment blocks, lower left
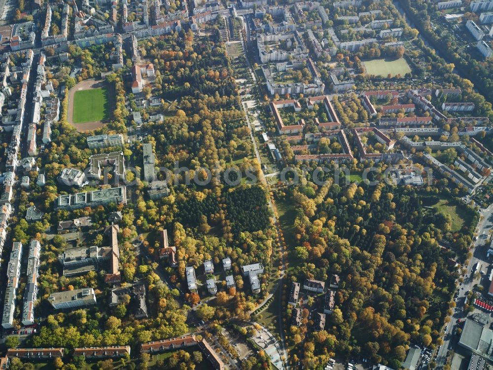
[(7, 266), (7, 286), (3, 299), (3, 316), (1, 326), (3, 329), (13, 328), (15, 313), (15, 298), (19, 279), (21, 276), (22, 243), (14, 242)]

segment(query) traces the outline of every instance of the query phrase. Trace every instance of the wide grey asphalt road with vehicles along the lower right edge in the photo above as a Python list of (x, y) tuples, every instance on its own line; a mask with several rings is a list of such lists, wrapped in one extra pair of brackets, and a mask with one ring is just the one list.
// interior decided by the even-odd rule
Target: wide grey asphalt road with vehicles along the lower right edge
[(481, 211), (481, 220), (478, 223), (476, 228), (476, 235), (478, 236), (477, 240), (474, 242), (473, 249), (471, 250), (473, 256), (469, 261), (469, 265), (467, 266), (467, 278), (464, 278), (462, 285), (459, 286), (459, 293), (457, 296), (458, 306), (454, 309), (454, 313), (452, 314), (452, 320), (448, 324), (447, 330), (443, 333), (443, 344), (438, 350), (438, 355), (435, 360), (437, 369), (442, 369), (445, 365), (445, 361), (447, 359), (447, 351), (449, 350), (449, 346), (451, 344), (452, 332), (456, 325), (456, 321), (458, 318), (464, 317), (462, 315), (462, 307), (464, 302), (464, 296), (466, 292), (472, 290), (473, 286), (477, 284), (477, 280), (474, 279), (474, 276), (471, 276), (473, 266), (479, 262), (479, 264), (489, 264), (489, 261), (486, 259), (486, 251), (483, 248), (478, 248), (479, 246), (485, 244), (488, 237), (482, 237), (483, 234), (489, 235), (489, 230), (493, 227), (493, 205)]

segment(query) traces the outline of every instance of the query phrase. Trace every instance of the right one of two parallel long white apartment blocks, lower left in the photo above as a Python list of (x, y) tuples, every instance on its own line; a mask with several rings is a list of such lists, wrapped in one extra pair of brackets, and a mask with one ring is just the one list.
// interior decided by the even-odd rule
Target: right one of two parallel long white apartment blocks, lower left
[(22, 325), (34, 324), (34, 303), (37, 298), (37, 275), (39, 268), (39, 253), (41, 245), (37, 240), (31, 240), (29, 245), (26, 290), (24, 291)]

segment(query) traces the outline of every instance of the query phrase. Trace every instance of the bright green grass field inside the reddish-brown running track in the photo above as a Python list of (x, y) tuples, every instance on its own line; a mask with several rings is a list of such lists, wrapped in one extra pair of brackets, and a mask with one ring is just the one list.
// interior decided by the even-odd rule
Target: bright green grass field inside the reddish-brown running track
[(108, 118), (109, 92), (106, 87), (75, 92), (73, 123), (104, 121)]

